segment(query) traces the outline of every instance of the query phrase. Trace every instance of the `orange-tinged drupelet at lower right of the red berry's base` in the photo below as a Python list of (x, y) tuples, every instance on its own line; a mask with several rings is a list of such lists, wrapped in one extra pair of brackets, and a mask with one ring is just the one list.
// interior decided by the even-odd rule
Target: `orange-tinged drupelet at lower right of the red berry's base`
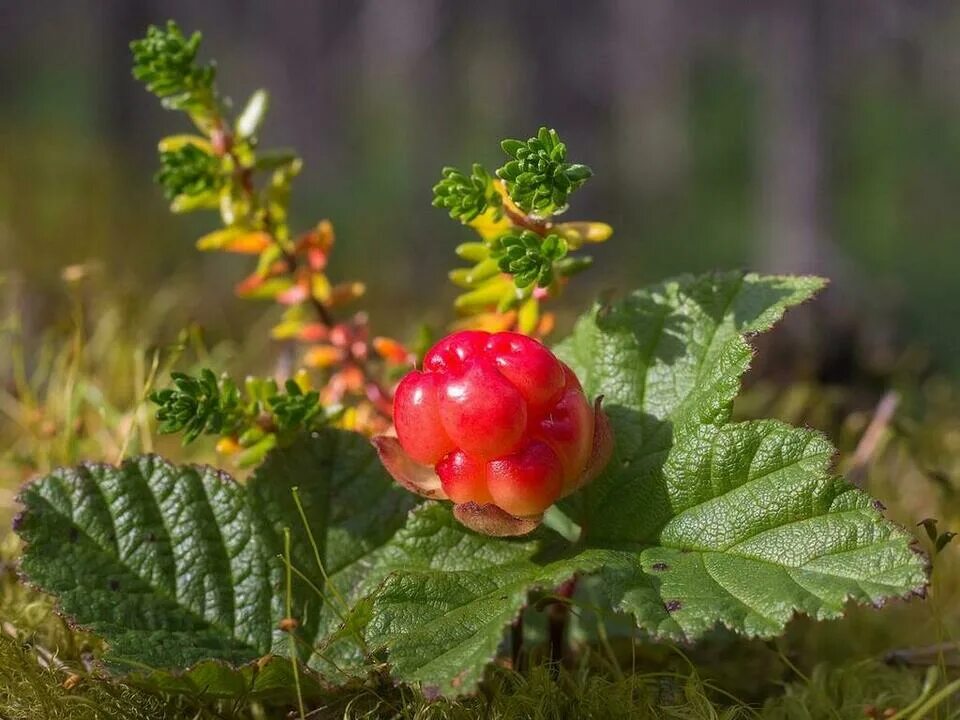
[(493, 501), (511, 515), (539, 515), (553, 505), (563, 486), (563, 467), (546, 443), (534, 441), (522, 450), (487, 464), (487, 487)]

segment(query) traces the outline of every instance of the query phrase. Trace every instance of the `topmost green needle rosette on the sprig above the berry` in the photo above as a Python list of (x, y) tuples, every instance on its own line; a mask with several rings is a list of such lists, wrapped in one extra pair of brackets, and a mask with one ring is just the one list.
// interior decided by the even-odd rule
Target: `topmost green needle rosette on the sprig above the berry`
[(536, 137), (504, 140), (500, 146), (511, 159), (497, 177), (517, 207), (539, 217), (566, 209), (570, 193), (593, 175), (586, 165), (566, 162), (567, 146), (553, 129), (542, 127)]

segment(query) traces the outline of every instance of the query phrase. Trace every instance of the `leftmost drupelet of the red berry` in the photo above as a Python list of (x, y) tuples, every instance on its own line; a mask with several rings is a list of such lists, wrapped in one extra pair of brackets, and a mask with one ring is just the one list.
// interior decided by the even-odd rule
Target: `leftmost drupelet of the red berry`
[(440, 379), (439, 375), (413, 371), (400, 381), (393, 398), (397, 438), (407, 455), (425, 465), (439, 462), (456, 447), (440, 422)]

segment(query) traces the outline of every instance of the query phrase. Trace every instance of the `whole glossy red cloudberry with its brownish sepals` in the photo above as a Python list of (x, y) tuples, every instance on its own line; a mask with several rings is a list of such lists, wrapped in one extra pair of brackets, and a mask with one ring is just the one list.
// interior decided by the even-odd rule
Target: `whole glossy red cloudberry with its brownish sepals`
[(396, 440), (376, 442), (387, 469), (490, 534), (528, 532), (609, 454), (606, 421), (573, 371), (519, 333), (441, 340), (397, 387), (394, 423)]

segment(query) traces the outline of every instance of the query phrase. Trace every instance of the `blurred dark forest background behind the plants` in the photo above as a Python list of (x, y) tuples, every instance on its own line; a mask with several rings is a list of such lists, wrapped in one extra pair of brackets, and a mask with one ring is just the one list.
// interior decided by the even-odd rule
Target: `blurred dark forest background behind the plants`
[(821, 352), (960, 368), (947, 0), (0, 0), (0, 267), (28, 327), (91, 260), (131, 307), (176, 287), (215, 335), (262, 310), (230, 297), (243, 259), (195, 252), (216, 218), (171, 216), (151, 182), (156, 140), (187, 126), (128, 43), (167, 18), (204, 32), (235, 105), (271, 91), (265, 145), (306, 160), (295, 224), (334, 221), (333, 274), (368, 281), (381, 331), (453, 296), (468, 233), (430, 207), (440, 167), (496, 167), (501, 137), (548, 124), (595, 171), (570, 215), (616, 228), (571, 307), (678, 272), (813, 271), (833, 279)]

